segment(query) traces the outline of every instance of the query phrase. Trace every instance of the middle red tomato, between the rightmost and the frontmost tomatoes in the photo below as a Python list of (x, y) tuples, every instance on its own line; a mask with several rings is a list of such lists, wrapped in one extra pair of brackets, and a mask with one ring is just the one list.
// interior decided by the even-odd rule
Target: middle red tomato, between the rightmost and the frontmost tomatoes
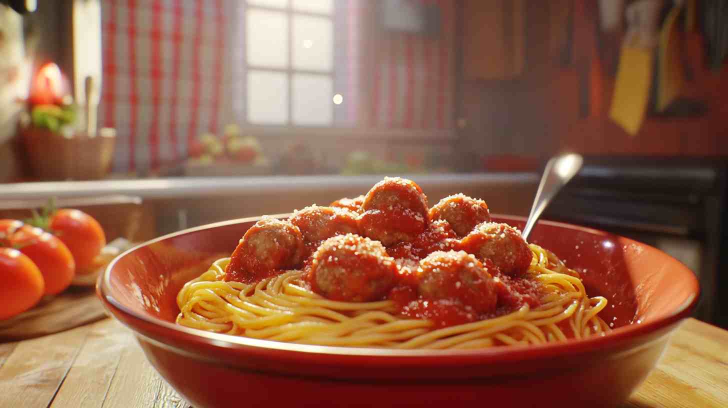
[(71, 285), (76, 275), (74, 257), (55, 235), (23, 225), (9, 242), (36, 264), (45, 281), (45, 294), (59, 294)]

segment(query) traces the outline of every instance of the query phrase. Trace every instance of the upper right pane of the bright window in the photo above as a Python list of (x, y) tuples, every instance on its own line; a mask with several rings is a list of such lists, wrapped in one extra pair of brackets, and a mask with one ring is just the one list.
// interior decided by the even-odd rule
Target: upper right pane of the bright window
[(293, 16), (293, 68), (331, 71), (333, 24), (326, 17)]

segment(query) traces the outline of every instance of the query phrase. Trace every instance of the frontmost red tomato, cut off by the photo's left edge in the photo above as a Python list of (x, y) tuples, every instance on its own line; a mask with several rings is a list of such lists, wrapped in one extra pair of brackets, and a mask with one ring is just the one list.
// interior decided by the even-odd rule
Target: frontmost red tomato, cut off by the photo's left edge
[(30, 309), (43, 296), (43, 275), (28, 256), (12, 248), (0, 248), (0, 320)]

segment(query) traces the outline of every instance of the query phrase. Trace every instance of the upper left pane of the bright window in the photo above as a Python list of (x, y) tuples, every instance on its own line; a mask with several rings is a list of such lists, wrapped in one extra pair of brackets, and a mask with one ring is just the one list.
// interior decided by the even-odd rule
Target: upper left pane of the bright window
[(248, 9), (248, 64), (288, 66), (288, 15), (262, 9)]

